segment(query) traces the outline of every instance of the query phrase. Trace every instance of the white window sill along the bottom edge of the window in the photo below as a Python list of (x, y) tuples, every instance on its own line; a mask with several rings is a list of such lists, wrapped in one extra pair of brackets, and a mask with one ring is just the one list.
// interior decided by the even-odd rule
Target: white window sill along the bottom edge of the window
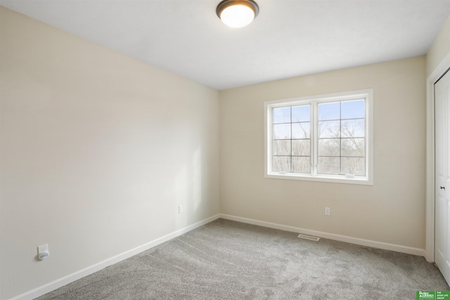
[(373, 180), (370, 180), (366, 177), (347, 178), (345, 176), (326, 176), (326, 175), (308, 176), (307, 174), (271, 173), (271, 174), (265, 174), (264, 178), (284, 179), (284, 180), (300, 180), (300, 181), (318, 181), (318, 182), (330, 182), (330, 183), (346, 183), (346, 184), (359, 184), (359, 185), (373, 185)]

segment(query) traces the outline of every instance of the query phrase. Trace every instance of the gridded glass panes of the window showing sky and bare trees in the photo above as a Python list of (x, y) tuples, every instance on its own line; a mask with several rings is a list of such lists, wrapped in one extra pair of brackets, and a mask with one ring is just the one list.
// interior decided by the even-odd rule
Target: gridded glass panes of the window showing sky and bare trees
[[(272, 171), (311, 174), (311, 105), (272, 109)], [(319, 103), (317, 173), (365, 176), (365, 101)]]

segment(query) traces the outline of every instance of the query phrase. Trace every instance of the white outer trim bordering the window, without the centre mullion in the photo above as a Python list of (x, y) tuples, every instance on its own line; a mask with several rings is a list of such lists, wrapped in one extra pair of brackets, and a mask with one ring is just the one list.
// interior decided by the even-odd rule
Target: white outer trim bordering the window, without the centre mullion
[[(309, 175), (309, 174), (275, 174), (271, 173), (271, 109), (274, 107), (283, 107), (288, 105), (304, 105), (311, 102), (329, 102), (352, 100), (356, 98), (366, 99), (366, 177), (349, 178), (346, 176), (335, 175)], [(315, 120), (311, 119), (311, 124)], [(311, 129), (314, 126), (311, 126)], [(314, 144), (314, 143), (313, 143)], [(313, 145), (314, 147), (314, 145)], [(315, 149), (311, 149), (311, 153)], [(331, 183), (350, 183), (361, 185), (373, 185), (373, 89), (364, 89), (358, 91), (347, 91), (342, 93), (329, 93), (317, 96), (306, 96), (300, 98), (288, 98), (280, 100), (271, 100), (264, 102), (264, 177), (275, 179), (289, 179), (301, 181), (323, 181)]]

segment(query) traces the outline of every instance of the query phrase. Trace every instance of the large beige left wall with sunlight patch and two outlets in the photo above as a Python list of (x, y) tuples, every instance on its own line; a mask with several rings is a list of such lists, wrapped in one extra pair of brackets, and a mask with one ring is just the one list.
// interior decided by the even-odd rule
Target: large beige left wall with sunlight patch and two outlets
[(0, 14), (0, 299), (219, 213), (217, 91)]

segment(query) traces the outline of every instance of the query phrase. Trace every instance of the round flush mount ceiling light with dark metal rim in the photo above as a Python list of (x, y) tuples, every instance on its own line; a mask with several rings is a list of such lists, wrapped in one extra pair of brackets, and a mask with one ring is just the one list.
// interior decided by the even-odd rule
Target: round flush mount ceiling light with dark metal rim
[(256, 18), (259, 7), (253, 0), (224, 0), (217, 6), (216, 13), (226, 26), (240, 28)]

